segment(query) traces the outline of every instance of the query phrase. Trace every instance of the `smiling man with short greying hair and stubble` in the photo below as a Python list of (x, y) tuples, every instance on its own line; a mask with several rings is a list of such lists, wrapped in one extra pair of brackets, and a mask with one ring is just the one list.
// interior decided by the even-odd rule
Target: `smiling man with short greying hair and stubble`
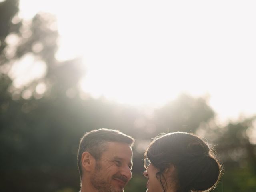
[(134, 139), (110, 129), (86, 133), (78, 149), (81, 192), (123, 192), (132, 178)]

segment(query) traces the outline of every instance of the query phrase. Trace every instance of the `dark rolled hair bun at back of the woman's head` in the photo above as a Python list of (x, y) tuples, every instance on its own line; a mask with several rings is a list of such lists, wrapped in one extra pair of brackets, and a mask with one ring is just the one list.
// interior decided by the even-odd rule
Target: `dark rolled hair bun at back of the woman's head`
[(220, 165), (212, 157), (204, 158), (202, 170), (191, 184), (191, 189), (196, 191), (204, 191), (215, 186), (220, 176)]

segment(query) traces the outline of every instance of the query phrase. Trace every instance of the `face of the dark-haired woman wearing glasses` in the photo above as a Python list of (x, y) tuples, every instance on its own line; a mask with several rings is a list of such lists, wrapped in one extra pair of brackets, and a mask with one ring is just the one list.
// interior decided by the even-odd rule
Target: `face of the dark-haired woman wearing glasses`
[(144, 171), (143, 175), (148, 179), (147, 182), (147, 192), (162, 192), (162, 185), (158, 178), (156, 178), (156, 173), (159, 169), (155, 168), (152, 163)]

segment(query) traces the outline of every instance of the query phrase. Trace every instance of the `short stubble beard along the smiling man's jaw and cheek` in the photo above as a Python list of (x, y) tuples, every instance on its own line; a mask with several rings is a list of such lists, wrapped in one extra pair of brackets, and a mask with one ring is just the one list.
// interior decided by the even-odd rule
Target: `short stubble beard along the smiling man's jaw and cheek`
[(90, 181), (92, 186), (98, 190), (98, 192), (124, 192), (123, 189), (112, 186), (111, 183), (106, 182), (100, 172), (101, 166), (96, 163), (95, 173), (92, 175)]

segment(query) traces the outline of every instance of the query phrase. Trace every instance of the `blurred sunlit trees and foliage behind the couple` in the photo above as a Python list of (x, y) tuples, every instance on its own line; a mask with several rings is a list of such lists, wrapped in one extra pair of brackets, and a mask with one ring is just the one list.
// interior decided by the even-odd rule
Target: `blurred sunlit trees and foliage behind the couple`
[[(82, 60), (55, 58), (56, 18), (38, 13), (24, 21), (17, 13), (18, 0), (0, 2), (1, 191), (78, 191), (78, 143), (85, 132), (98, 128), (136, 139), (126, 192), (146, 191), (142, 154), (151, 138), (174, 131), (196, 133), (214, 147), (225, 168), (215, 191), (255, 191), (255, 117), (220, 126), (207, 98), (188, 94), (154, 110), (93, 99), (77, 86), (86, 72)], [(32, 58), (32, 66), (44, 66), (43, 73), (21, 80), (15, 68), (24, 58)]]

